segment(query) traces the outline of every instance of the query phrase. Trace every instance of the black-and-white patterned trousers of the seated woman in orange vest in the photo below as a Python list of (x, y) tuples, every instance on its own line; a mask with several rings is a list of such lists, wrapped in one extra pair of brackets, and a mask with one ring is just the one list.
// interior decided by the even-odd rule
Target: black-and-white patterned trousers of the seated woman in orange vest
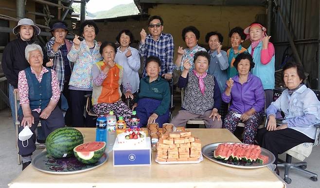
[(124, 118), (125, 123), (129, 126), (129, 119), (131, 117), (132, 111), (123, 101), (117, 101), (115, 103), (99, 103), (93, 105), (93, 111), (96, 114), (109, 114), (110, 111), (113, 111), (114, 115), (119, 120), (119, 117)]

